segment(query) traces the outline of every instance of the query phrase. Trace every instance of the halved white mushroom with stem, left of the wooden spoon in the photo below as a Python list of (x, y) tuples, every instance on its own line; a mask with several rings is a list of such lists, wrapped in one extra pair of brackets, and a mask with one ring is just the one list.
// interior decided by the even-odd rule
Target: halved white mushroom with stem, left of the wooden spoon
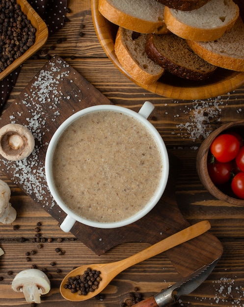
[(50, 289), (50, 280), (47, 275), (37, 269), (27, 269), (18, 273), (12, 281), (12, 289), (23, 292), (28, 303), (41, 303), (41, 295), (47, 294)]

